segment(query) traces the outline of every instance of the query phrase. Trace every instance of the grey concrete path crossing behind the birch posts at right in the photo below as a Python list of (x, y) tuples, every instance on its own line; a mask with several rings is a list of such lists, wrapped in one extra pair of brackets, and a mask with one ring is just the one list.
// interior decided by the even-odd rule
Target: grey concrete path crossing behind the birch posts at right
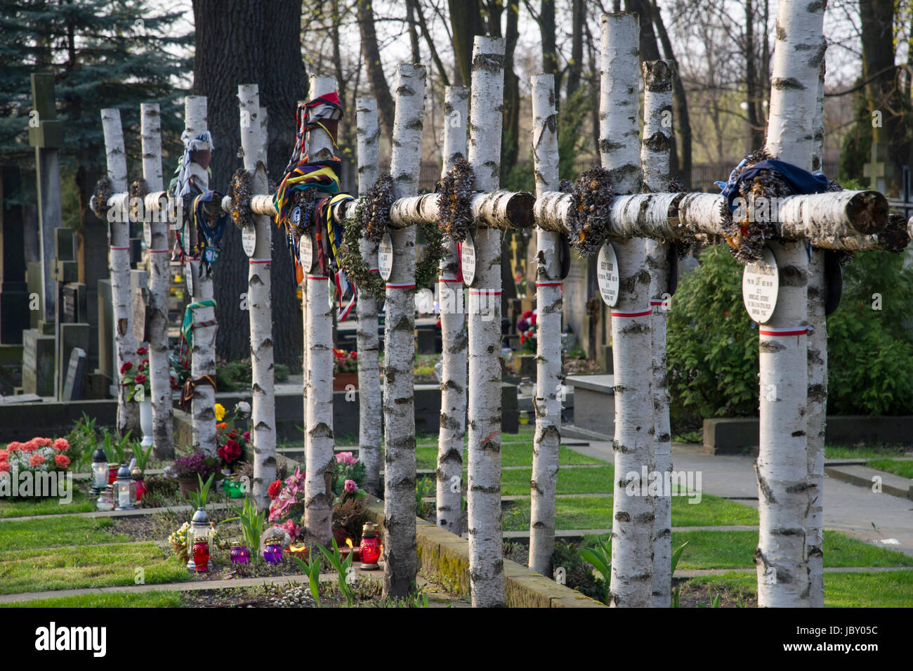
[[(609, 461), (614, 458), (612, 443), (607, 441), (590, 441), (588, 446), (571, 448), (587, 456)], [(705, 493), (758, 508), (753, 456), (709, 456), (703, 454), (703, 446), (673, 443), (672, 463), (676, 470), (700, 471), (701, 489)], [(875, 494), (871, 488), (826, 475), (824, 528), (838, 529), (856, 539), (878, 542), (883, 547), (913, 556), (913, 501), (885, 493)], [(889, 542), (880, 542), (885, 540)]]

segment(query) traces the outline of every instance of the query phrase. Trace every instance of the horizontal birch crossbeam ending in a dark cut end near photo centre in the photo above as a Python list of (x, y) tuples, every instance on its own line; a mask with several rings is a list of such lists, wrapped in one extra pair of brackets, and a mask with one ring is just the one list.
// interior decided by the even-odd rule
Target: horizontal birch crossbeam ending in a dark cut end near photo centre
[[(392, 228), (432, 223), (440, 220), (438, 194), (400, 198), (390, 208)], [(536, 197), (526, 191), (493, 191), (472, 194), (470, 206), (475, 224), (503, 231), (530, 228), (534, 223), (533, 204)]]

